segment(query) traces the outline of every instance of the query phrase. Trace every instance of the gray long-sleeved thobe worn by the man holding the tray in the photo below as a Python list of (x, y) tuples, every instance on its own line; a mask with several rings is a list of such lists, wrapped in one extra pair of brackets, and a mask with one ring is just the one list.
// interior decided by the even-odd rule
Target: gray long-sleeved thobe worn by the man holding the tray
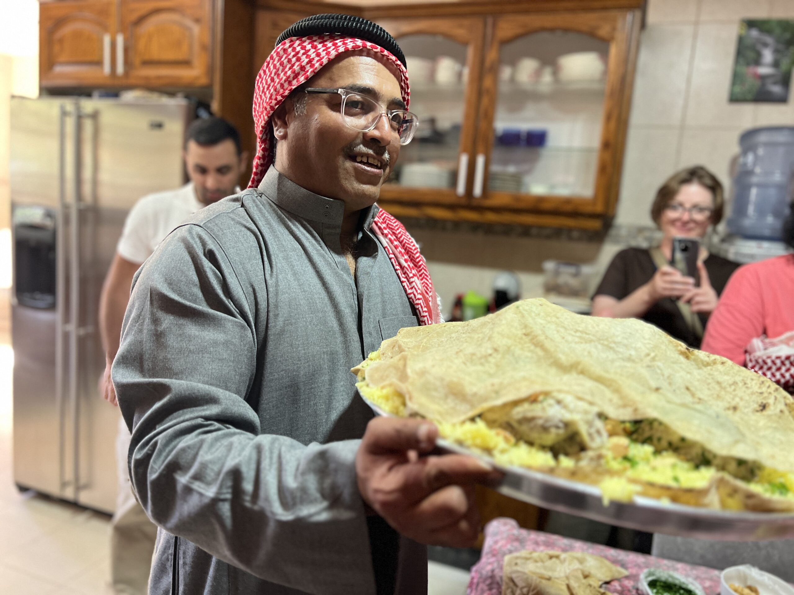
[(149, 593), (426, 592), (425, 548), (365, 515), (354, 470), (372, 414), (349, 370), (418, 324), (376, 212), (354, 281), (344, 204), (271, 167), (138, 272), (113, 382), (160, 528)]

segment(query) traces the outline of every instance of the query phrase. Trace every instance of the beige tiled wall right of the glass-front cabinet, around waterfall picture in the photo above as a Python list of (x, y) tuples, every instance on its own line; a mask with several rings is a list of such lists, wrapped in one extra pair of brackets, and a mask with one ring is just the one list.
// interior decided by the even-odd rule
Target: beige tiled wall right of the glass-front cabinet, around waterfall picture
[(738, 136), (794, 124), (794, 102), (728, 102), (742, 18), (794, 18), (794, 0), (649, 0), (629, 120), (617, 221), (648, 225), (649, 201), (694, 163), (730, 186)]

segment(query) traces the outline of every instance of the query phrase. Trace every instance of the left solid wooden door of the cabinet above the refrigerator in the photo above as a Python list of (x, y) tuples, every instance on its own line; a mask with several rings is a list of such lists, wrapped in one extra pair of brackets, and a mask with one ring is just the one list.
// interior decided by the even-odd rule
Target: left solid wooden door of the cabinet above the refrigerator
[(41, 86), (102, 85), (111, 79), (114, 2), (42, 2)]

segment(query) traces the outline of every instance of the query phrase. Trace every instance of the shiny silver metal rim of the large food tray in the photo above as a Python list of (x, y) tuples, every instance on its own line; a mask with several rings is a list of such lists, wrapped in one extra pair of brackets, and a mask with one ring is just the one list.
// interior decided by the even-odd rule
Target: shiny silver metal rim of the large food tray
[[(376, 415), (390, 417), (371, 401), (361, 398)], [(604, 506), (601, 491), (595, 486), (521, 467), (499, 466), (484, 455), (472, 453), (446, 440), (436, 440), (436, 445), (441, 452), (470, 455), (488, 461), (504, 473), (503, 481), (498, 486), (492, 486), (497, 492), (545, 509), (568, 512), (619, 527), (673, 536), (720, 541), (794, 538), (794, 513), (703, 509), (665, 504), (642, 496), (634, 497), (632, 502), (611, 501)]]

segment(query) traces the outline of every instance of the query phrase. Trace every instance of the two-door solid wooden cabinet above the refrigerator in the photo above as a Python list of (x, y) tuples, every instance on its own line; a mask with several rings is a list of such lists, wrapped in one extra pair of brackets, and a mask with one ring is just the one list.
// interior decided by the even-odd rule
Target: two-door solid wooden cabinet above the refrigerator
[(40, 84), (209, 86), (213, 4), (214, 0), (41, 0)]

